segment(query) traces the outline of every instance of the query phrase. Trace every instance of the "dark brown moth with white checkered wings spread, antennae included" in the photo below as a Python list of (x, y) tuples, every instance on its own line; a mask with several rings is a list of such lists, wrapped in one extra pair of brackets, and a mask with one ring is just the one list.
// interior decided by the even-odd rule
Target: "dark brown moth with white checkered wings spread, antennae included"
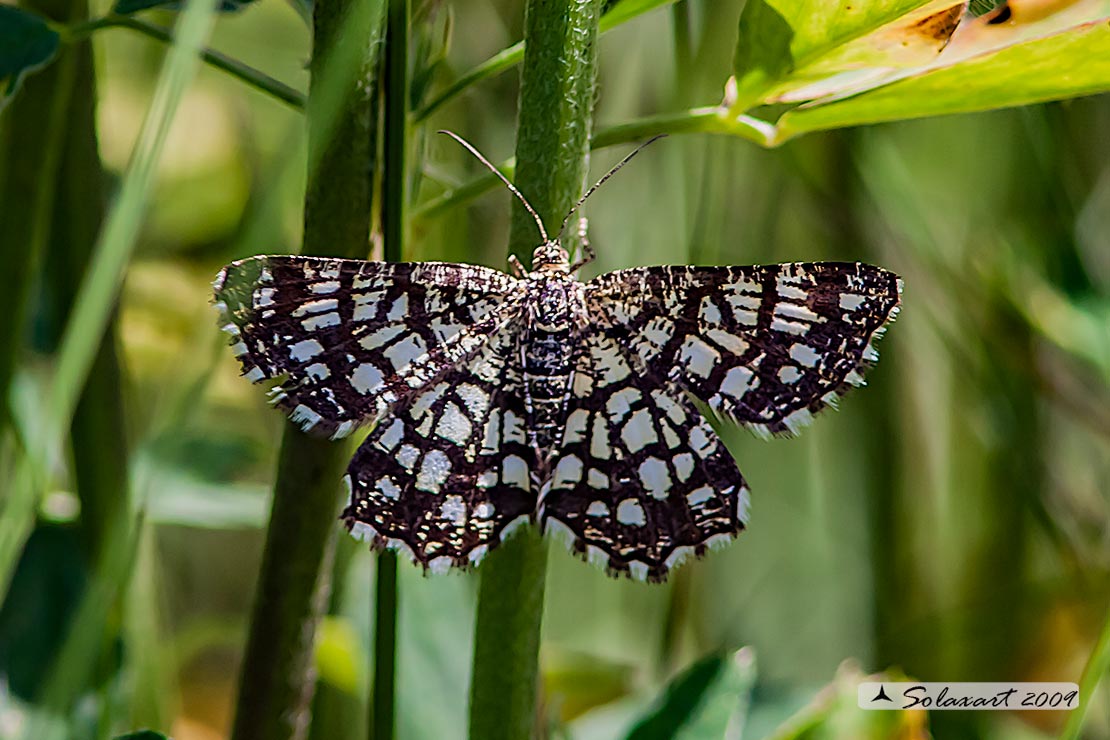
[(697, 402), (758, 435), (796, 433), (864, 383), (901, 281), (824, 262), (583, 283), (594, 255), (583, 233), (571, 262), (571, 214), (548, 237), (502, 180), (541, 234), (531, 271), (256, 256), (215, 278), (222, 327), (304, 429), (372, 425), (342, 518), (373, 547), (438, 572), (534, 523), (612, 575), (663, 580), (748, 521), (748, 487)]

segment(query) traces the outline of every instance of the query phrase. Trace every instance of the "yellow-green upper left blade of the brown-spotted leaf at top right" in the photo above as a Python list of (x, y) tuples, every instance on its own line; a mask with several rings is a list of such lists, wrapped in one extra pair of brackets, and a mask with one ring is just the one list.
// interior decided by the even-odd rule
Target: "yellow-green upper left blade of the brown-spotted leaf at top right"
[(740, 13), (733, 63), (737, 109), (763, 102), (784, 81), (810, 79), (808, 68), (924, 4), (925, 0), (749, 0)]

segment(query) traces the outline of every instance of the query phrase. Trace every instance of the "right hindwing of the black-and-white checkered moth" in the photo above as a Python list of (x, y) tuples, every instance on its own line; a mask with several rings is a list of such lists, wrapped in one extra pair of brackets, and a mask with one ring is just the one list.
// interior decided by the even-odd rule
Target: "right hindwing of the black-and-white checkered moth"
[(584, 328), (539, 518), (610, 572), (663, 580), (744, 528), (748, 491), (686, 392), (627, 354), (620, 333)]

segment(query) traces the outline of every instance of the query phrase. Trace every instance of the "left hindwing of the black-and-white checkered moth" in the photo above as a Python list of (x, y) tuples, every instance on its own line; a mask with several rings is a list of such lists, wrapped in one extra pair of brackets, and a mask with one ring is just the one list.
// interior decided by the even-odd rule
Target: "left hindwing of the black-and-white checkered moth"
[(433, 571), (476, 564), (536, 507), (518, 322), (374, 428), (347, 468), (343, 519)]

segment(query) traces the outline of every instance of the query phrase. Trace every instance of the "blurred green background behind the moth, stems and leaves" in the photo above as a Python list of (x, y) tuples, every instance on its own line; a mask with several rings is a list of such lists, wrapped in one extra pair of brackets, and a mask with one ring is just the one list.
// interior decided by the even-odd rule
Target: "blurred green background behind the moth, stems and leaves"
[[(690, 0), (606, 34), (597, 126), (719, 100), (741, 4)], [(440, 24), (453, 17), (444, 79), (522, 34), (512, 0), (425, 9)], [(210, 44), (303, 90), (310, 41), (297, 12), (270, 1), (221, 17)], [(128, 163), (165, 51), (125, 30), (97, 37), (110, 173)], [(423, 130), (452, 129), (502, 161), (516, 94), (515, 72), (486, 80)], [(1101, 95), (809, 134), (769, 151), (672, 136), (591, 200), (599, 256), (584, 277), (656, 263), (860, 260), (898, 272), (906, 290), (868, 387), (839, 412), (797, 439), (724, 430), (753, 490), (751, 526), (727, 549), (659, 586), (612, 580), (553, 547), (542, 682), (554, 737), (622, 737), (675, 671), (740, 647), (757, 671), (745, 738), (765, 737), (838, 671), (1078, 681), (1110, 601), (1108, 132)], [(443, 138), (422, 149), (406, 259), (502, 266), (509, 195), (423, 216), (422, 202), (480, 171)], [(626, 152), (595, 152), (594, 176)], [(89, 687), (112, 708), (113, 730), (157, 720), (178, 740), (209, 740), (230, 726), (283, 420), (238, 376), (209, 282), (230, 260), (297, 250), (304, 156), (300, 113), (201, 69), (120, 304), (131, 480), (145, 517), (111, 617), (117, 649)], [(50, 247), (47, 274), (67, 260), (57, 240)], [(24, 419), (60, 327), (60, 288), (43, 278), (32, 290), (32, 352), (14, 392)], [(88, 581), (78, 499), (54, 467), (59, 484), (0, 612), (0, 737), (24, 727)], [(345, 537), (340, 549), (349, 567), (317, 668), (333, 698), (357, 702), (373, 557)], [(400, 581), (397, 734), (462, 738), (477, 579), (402, 564)], [(947, 712), (865, 728), (849, 689), (804, 737), (1031, 740), (1063, 721)], [(1108, 691), (1083, 737), (1110, 738)], [(88, 728), (103, 721), (102, 708), (83, 707)]]

